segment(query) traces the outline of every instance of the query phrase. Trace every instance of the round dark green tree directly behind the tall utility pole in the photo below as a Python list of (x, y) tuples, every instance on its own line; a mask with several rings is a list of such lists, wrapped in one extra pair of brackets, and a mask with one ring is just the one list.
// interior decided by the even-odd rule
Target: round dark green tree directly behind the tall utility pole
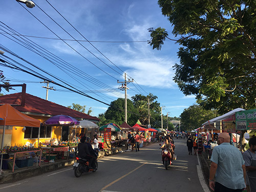
[[(122, 124), (124, 122), (124, 99), (118, 98), (110, 103), (105, 112), (105, 118), (112, 120), (112, 123)], [(134, 108), (133, 102), (127, 99), (127, 123), (134, 125), (139, 119), (139, 113)]]

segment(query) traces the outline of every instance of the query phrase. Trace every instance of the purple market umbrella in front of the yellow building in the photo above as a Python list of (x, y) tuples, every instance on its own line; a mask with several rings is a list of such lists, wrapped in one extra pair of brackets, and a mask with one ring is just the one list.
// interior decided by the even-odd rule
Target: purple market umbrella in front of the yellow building
[(45, 125), (78, 125), (80, 122), (68, 115), (55, 115), (45, 121)]

